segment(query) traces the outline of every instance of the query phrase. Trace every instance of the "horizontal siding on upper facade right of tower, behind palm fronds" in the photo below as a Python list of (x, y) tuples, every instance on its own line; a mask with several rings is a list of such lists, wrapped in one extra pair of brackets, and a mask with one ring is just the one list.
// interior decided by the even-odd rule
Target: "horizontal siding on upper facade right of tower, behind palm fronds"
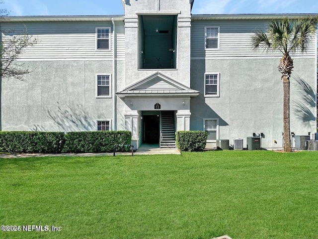
[[(257, 30), (266, 30), (266, 20), (193, 20), (191, 27), (191, 57), (279, 57), (280, 52), (266, 54), (263, 50), (253, 51), (250, 40)], [(220, 49), (205, 50), (205, 27), (220, 27)], [(315, 57), (315, 40), (306, 56)], [(302, 55), (302, 54), (297, 54)]]

